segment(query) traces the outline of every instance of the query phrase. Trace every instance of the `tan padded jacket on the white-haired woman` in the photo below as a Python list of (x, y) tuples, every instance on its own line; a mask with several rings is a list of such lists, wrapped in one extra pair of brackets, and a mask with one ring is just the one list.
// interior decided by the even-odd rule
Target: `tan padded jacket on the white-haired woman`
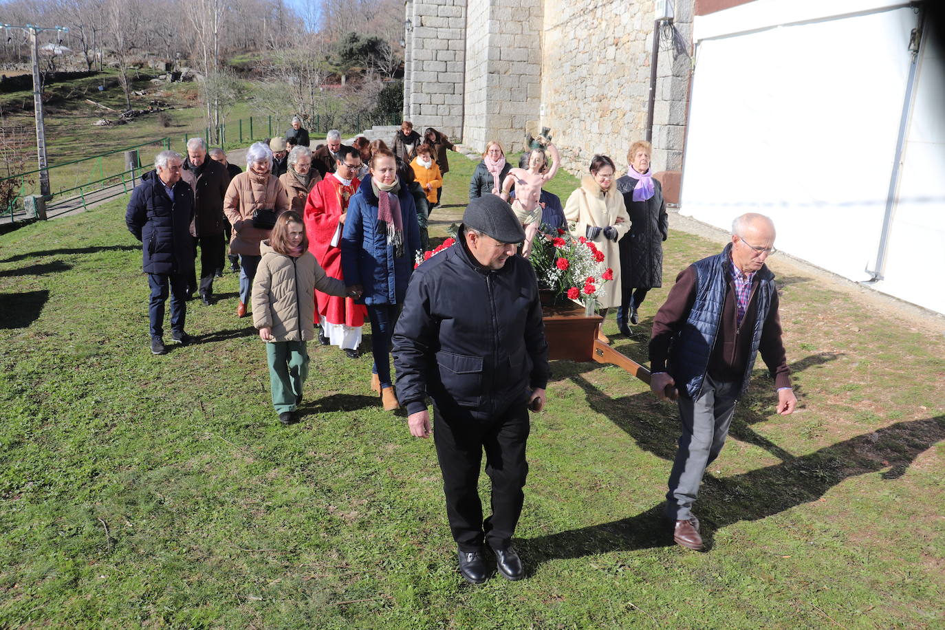
[(269, 230), (253, 228), (252, 213), (266, 209), (276, 214), (289, 209), (289, 198), (279, 178), (271, 173), (260, 176), (246, 171), (230, 181), (223, 197), (223, 213), (233, 227), (231, 254), (259, 256), (259, 242), (269, 237)]

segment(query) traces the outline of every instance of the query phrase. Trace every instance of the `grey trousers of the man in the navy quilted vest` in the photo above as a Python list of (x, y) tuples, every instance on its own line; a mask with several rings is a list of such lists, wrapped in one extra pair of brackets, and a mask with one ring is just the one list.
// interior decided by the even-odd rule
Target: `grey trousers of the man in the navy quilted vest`
[(716, 383), (707, 374), (696, 400), (679, 397), (679, 451), (669, 474), (666, 493), (666, 518), (685, 520), (693, 517), (699, 485), (706, 467), (718, 457), (729, 435), (741, 383)]

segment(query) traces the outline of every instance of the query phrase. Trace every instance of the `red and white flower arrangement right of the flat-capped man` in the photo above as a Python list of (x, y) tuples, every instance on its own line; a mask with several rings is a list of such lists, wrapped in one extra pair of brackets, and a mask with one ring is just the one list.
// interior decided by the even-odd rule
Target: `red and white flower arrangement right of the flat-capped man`
[(583, 236), (575, 238), (560, 228), (542, 226), (529, 260), (540, 285), (556, 297), (583, 304), (589, 313), (597, 299), (603, 298), (603, 285), (613, 280), (613, 270), (604, 268), (604, 252)]

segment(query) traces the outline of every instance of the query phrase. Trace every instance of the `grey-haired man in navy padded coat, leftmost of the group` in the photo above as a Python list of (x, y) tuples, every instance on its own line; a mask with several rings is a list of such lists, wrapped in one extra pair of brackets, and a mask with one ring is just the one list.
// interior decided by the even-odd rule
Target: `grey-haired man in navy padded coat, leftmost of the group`
[(141, 176), (131, 193), (125, 223), (142, 242), (144, 268), (151, 288), (148, 315), (151, 321), (151, 352), (164, 354), (164, 302), (167, 286), (171, 293), (171, 337), (184, 345), (187, 313), (187, 280), (194, 268), (194, 192), (180, 179), (183, 158), (174, 151), (162, 151), (154, 159), (155, 170)]

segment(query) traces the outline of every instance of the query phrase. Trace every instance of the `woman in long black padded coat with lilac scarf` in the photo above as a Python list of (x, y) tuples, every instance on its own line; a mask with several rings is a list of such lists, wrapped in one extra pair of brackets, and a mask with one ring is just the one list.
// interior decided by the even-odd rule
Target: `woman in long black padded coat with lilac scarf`
[(620, 240), (623, 295), (617, 310), (617, 326), (627, 335), (627, 324), (640, 321), (637, 309), (646, 292), (662, 286), (662, 241), (669, 233), (662, 184), (650, 172), (651, 151), (651, 145), (643, 140), (630, 145), (627, 175), (617, 179), (617, 190), (624, 195), (631, 221), (629, 233)]

